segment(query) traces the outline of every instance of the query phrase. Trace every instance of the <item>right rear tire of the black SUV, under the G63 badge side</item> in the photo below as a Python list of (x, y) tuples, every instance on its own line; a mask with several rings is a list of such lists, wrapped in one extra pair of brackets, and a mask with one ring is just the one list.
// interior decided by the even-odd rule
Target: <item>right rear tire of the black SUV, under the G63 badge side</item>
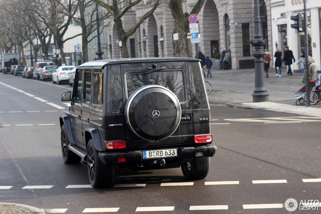
[(195, 157), (193, 161), (182, 164), (183, 175), (188, 180), (200, 180), (207, 176), (210, 169), (210, 157)]

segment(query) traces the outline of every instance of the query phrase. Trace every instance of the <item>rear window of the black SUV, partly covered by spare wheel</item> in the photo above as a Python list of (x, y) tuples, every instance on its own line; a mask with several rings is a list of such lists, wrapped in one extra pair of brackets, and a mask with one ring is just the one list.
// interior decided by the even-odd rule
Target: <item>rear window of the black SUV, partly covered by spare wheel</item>
[(184, 74), (181, 70), (157, 71), (149, 74), (127, 73), (126, 83), (128, 97), (137, 88), (144, 85), (160, 85), (172, 91), (180, 103), (184, 103), (186, 100)]

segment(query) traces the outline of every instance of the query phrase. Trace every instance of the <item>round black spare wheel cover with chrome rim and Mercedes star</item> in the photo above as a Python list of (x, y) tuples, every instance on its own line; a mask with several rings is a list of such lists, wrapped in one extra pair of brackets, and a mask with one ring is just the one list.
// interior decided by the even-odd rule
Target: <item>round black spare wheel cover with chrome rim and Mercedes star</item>
[(125, 105), (125, 120), (132, 132), (148, 141), (169, 137), (177, 129), (181, 107), (176, 95), (160, 85), (136, 89)]

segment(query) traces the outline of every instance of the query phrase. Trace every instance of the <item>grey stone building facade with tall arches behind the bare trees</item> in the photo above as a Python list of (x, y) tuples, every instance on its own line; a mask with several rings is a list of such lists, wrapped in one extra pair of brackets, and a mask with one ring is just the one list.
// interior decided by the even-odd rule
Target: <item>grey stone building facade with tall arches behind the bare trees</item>
[[(183, 1), (186, 17), (196, 4), (196, 0)], [(254, 67), (254, 49), (249, 41), (254, 38), (254, 2), (253, 0), (206, 0), (198, 13), (199, 44), (189, 41), (189, 55), (195, 57), (197, 50), (202, 50), (215, 65), (214, 56), (222, 49), (231, 49), (230, 66), (233, 69)], [(272, 52), (271, 6), (270, 0), (260, 0), (261, 31), (268, 41), (266, 49)], [(147, 11), (149, 5), (136, 6), (123, 17), (127, 31)], [(160, 5), (153, 15), (145, 20), (137, 31), (127, 40), (131, 57), (173, 57), (173, 17), (168, 1)], [(120, 58), (120, 48), (115, 24), (107, 27), (108, 58)], [(190, 39), (189, 39), (190, 40)], [(271, 63), (272, 64), (272, 63)]]

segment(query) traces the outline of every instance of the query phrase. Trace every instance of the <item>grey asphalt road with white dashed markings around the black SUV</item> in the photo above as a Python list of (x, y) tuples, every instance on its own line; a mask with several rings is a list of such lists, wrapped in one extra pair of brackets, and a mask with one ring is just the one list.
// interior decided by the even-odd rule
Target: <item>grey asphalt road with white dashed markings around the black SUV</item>
[(321, 118), (215, 104), (211, 128), (218, 150), (205, 179), (187, 181), (180, 168), (117, 169), (117, 185), (90, 188), (86, 165), (62, 159), (59, 115), (66, 91), (72, 91), (68, 84), (0, 73), (0, 202), (48, 213), (254, 214), (288, 213), (282, 206), (290, 197), (321, 201)]

